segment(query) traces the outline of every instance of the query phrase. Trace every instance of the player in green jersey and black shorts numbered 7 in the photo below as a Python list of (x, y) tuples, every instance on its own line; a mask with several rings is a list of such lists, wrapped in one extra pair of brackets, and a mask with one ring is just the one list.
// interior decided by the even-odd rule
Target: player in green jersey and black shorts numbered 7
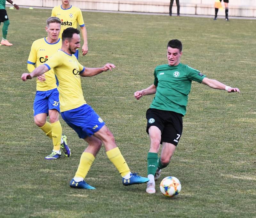
[[(151, 86), (134, 93), (134, 97), (138, 100), (144, 95), (156, 94), (146, 113), (147, 133), (150, 137), (149, 182), (146, 189), (149, 194), (156, 192), (155, 180), (160, 177), (161, 169), (169, 164), (180, 140), (182, 117), (186, 114), (191, 82), (203, 83), (213, 89), (240, 92), (238, 88), (231, 88), (217, 80), (208, 79), (198, 70), (180, 63), (181, 55), (182, 43), (177, 39), (169, 41), (167, 45), (168, 64), (155, 68), (155, 80)], [(162, 144), (162, 152), (158, 158), (160, 144)]]

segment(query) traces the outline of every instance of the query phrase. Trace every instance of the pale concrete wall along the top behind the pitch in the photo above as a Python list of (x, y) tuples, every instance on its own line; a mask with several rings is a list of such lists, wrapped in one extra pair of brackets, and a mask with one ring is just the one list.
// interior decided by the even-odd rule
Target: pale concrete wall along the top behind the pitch
[[(16, 0), (20, 6), (54, 7), (60, 0)], [(180, 0), (180, 14), (214, 15), (215, 0)], [(170, 0), (71, 0), (80, 9), (122, 12), (169, 13)], [(9, 4), (6, 2), (6, 4)], [(224, 3), (222, 5), (225, 9)], [(256, 17), (256, 0), (232, 0), (228, 4), (229, 16)], [(172, 12), (177, 12), (174, 1)], [(218, 15), (225, 15), (219, 10)]]

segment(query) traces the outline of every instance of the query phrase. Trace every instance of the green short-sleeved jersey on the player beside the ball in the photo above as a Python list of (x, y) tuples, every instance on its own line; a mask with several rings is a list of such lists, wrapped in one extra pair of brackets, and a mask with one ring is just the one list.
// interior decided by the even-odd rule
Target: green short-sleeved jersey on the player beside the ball
[(191, 82), (202, 82), (205, 75), (188, 65), (157, 66), (154, 72), (156, 95), (150, 108), (186, 114)]

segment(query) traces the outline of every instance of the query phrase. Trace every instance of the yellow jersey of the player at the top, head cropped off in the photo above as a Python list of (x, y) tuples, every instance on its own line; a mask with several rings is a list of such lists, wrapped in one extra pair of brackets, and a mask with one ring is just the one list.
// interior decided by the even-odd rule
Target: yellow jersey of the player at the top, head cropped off
[(58, 17), (61, 20), (60, 37), (63, 30), (68, 27), (76, 29), (77, 23), (80, 27), (84, 27), (84, 19), (81, 10), (72, 5), (67, 9), (63, 9), (61, 5), (55, 6), (52, 9), (52, 17)]

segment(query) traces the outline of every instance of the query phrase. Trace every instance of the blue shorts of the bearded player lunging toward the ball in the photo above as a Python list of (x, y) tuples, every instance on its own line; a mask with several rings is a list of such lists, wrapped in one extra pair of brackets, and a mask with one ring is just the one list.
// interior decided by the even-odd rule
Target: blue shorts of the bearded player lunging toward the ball
[(60, 114), (68, 126), (76, 131), (79, 138), (92, 136), (105, 125), (99, 115), (87, 104)]

